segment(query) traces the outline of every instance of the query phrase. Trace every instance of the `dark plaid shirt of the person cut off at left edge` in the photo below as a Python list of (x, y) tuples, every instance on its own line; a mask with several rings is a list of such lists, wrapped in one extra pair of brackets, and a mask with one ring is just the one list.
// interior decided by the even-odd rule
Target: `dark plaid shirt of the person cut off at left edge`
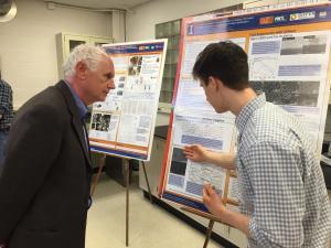
[(12, 89), (8, 83), (0, 79), (0, 131), (9, 130), (12, 118)]

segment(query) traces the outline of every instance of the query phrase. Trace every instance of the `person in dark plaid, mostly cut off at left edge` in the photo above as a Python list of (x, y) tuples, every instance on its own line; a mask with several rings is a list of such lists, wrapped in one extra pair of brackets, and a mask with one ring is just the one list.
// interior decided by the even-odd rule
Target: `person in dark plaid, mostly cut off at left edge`
[(0, 68), (0, 174), (2, 171), (3, 149), (12, 118), (12, 89), (10, 85), (2, 79)]

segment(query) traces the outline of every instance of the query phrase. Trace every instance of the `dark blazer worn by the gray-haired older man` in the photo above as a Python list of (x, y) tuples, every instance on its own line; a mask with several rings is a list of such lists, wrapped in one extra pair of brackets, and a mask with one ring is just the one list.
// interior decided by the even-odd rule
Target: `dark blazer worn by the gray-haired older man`
[(0, 242), (83, 248), (92, 164), (78, 108), (63, 80), (19, 110), (3, 166)]

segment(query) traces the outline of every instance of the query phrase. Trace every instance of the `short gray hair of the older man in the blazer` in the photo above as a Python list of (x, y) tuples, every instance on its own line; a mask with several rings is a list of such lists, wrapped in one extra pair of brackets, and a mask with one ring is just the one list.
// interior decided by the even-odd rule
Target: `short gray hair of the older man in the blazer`
[(70, 54), (67, 61), (63, 64), (64, 76), (75, 75), (78, 62), (84, 62), (90, 71), (96, 71), (98, 63), (107, 53), (99, 46), (81, 44)]

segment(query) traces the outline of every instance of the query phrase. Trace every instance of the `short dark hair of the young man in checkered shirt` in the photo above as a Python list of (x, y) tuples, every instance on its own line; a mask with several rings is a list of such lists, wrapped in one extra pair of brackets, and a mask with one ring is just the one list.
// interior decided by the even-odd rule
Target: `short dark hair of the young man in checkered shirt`
[(247, 54), (233, 42), (209, 44), (196, 57), (193, 77), (207, 85), (210, 76), (232, 89), (249, 87)]

